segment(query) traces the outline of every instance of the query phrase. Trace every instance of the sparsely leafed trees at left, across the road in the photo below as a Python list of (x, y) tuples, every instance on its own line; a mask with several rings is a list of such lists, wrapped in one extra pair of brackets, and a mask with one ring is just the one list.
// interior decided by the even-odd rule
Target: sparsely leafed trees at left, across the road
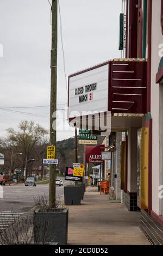
[[(4, 154), (4, 165), (0, 169), (8, 173), (10, 168), (14, 173), (20, 169), (24, 174), (27, 160), (27, 174), (33, 166), (42, 166), (42, 160), (46, 156), (48, 144), (48, 131), (34, 121), (21, 121), (18, 130), (12, 128), (7, 130), (7, 137), (0, 138), (0, 153)], [(18, 155), (20, 154), (21, 155)], [(12, 164), (11, 164), (12, 155)], [(34, 159), (35, 161), (30, 161)]]

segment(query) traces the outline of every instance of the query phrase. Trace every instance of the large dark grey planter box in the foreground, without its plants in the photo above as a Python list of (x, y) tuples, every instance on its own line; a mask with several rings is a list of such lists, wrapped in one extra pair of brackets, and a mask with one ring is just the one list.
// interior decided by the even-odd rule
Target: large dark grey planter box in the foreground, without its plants
[[(52, 209), (54, 210), (54, 209)], [(67, 245), (68, 209), (34, 212), (34, 242)]]

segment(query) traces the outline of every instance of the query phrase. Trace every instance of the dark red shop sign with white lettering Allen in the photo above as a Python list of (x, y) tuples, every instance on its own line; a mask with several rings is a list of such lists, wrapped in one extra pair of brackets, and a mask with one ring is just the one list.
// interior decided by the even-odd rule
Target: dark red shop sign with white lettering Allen
[(85, 148), (85, 160), (86, 163), (102, 163), (102, 151), (105, 150), (105, 145), (98, 145), (96, 147)]

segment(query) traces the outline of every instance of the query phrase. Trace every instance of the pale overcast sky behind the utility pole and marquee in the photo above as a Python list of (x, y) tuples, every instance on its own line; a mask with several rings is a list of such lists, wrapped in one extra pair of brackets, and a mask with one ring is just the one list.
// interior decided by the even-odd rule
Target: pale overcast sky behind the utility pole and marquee
[[(120, 57), (121, 2), (60, 0), (66, 76)], [(34, 120), (49, 129), (50, 17), (48, 0), (0, 1), (0, 44), (3, 45), (3, 57), (0, 57), (0, 136), (5, 136), (9, 127), (17, 129), (18, 123), (25, 119)], [(60, 21), (57, 103), (59, 109), (67, 106)], [(67, 125), (64, 118), (64, 115), (60, 117), (60, 124), (64, 121)], [(72, 130), (58, 130), (58, 140), (72, 136)]]

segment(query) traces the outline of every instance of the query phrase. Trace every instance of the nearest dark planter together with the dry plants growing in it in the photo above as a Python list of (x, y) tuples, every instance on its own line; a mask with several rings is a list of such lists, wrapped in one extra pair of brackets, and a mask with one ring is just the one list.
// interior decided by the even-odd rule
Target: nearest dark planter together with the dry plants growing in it
[(46, 196), (35, 199), (37, 210), (34, 211), (34, 242), (39, 243), (45, 236), (48, 242), (67, 244), (68, 208), (61, 200), (56, 200), (55, 208), (49, 206)]

